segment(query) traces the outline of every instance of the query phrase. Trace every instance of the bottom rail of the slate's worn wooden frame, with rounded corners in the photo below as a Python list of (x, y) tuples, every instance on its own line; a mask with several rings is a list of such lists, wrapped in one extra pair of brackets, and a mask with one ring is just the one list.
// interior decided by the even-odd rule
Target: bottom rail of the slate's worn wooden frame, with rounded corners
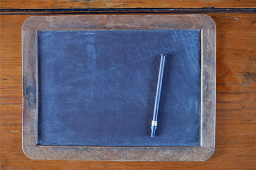
[(34, 160), (205, 161), (215, 147), (23, 146)]

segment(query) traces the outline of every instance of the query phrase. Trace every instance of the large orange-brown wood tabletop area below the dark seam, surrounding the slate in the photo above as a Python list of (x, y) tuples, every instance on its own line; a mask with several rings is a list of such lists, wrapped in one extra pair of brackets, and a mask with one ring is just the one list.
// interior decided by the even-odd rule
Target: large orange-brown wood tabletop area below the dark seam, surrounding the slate
[(205, 162), (29, 160), (21, 150), (21, 26), (1, 15), (1, 169), (255, 169), (256, 14), (210, 14), (217, 26), (216, 149)]

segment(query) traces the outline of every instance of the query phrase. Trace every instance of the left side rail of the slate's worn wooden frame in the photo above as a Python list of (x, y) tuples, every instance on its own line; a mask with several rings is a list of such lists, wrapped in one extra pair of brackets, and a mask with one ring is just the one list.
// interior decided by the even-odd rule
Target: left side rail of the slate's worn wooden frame
[(23, 145), (37, 144), (37, 34), (22, 32), (23, 48)]

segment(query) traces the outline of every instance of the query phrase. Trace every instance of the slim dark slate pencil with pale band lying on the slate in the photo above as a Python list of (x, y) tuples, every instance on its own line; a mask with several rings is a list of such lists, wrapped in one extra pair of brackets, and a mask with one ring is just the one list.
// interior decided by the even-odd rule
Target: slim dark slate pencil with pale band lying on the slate
[(157, 129), (157, 116), (158, 116), (158, 107), (160, 102), (160, 94), (162, 88), (162, 81), (163, 81), (163, 69), (165, 68), (165, 54), (161, 54), (160, 59), (160, 68), (158, 73), (158, 80), (157, 80), (157, 93), (155, 94), (155, 106), (154, 106), (154, 115), (151, 124), (151, 137), (155, 136), (155, 130)]

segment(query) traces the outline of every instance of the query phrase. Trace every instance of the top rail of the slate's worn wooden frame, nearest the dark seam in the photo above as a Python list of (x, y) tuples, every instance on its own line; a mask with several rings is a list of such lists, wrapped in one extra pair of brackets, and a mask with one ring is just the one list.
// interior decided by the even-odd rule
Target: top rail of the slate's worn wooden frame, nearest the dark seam
[(216, 24), (208, 15), (67, 15), (30, 16), (22, 27), (22, 30), (123, 29), (216, 29)]

